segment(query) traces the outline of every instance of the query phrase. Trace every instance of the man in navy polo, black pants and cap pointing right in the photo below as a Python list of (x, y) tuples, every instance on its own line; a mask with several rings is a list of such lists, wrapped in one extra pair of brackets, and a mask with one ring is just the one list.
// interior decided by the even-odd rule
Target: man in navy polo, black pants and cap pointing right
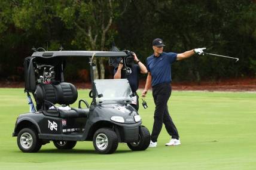
[(171, 86), (171, 64), (176, 60), (183, 60), (191, 57), (194, 54), (203, 54), (206, 48), (197, 48), (186, 51), (181, 54), (173, 52), (163, 52), (163, 41), (159, 38), (154, 39), (153, 43), (154, 54), (147, 58), (148, 76), (145, 89), (142, 92), (142, 97), (145, 97), (148, 89), (152, 86), (154, 103), (156, 110), (154, 112), (154, 125), (151, 134), (150, 147), (157, 146), (157, 138), (159, 137), (163, 123), (168, 134), (171, 136), (169, 143), (166, 146), (176, 146), (181, 144), (179, 140), (178, 130), (176, 129), (172, 118), (170, 118), (167, 101), (172, 92)]

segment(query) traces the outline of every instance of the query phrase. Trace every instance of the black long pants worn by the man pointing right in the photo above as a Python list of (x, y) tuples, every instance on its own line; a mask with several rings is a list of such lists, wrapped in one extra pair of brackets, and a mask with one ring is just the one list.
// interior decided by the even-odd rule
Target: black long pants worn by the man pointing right
[(167, 101), (172, 93), (172, 86), (170, 84), (159, 84), (153, 86), (153, 97), (156, 104), (156, 110), (154, 113), (154, 125), (151, 134), (151, 140), (157, 141), (159, 137), (163, 123), (165, 128), (172, 138), (179, 138), (178, 130), (176, 129), (172, 118), (170, 118)]

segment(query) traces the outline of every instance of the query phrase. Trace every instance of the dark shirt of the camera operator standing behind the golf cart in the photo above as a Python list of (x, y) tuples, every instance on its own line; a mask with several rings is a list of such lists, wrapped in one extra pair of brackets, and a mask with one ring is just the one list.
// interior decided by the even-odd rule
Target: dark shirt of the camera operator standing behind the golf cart
[[(117, 69), (118, 67), (115, 67), (114, 75), (117, 72)], [(137, 89), (139, 88), (139, 73), (141, 72), (141, 69), (139, 68), (138, 64), (134, 64), (131, 70), (132, 70), (132, 73), (130, 75), (125, 75), (122, 69), (121, 79), (128, 79), (132, 92), (136, 92)]]

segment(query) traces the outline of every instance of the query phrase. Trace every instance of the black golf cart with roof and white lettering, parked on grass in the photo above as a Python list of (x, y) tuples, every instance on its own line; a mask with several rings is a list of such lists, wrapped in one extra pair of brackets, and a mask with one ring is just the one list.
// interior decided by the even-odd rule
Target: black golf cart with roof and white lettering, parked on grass
[[(74, 85), (64, 81), (69, 57), (89, 58), (92, 103), (79, 100)], [(13, 137), (22, 152), (38, 152), (53, 141), (57, 149), (72, 149), (77, 141), (93, 141), (96, 152), (115, 152), (118, 143), (131, 150), (145, 150), (150, 132), (142, 126), (138, 112), (130, 106), (132, 90), (127, 79), (94, 79), (97, 57), (126, 58), (125, 52), (35, 51), (25, 58), (25, 92), (30, 112), (16, 120)], [(31, 95), (35, 99), (33, 105)], [(56, 104), (59, 104), (57, 106)], [(82, 107), (86, 106), (86, 108)]]

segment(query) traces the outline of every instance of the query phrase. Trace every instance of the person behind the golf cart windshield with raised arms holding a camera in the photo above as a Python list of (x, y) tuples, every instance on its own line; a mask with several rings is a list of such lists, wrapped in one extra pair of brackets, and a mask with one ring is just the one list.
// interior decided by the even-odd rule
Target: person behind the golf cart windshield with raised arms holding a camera
[(114, 69), (114, 79), (128, 79), (130, 87), (133, 92), (132, 97), (132, 106), (138, 111), (139, 110), (139, 96), (137, 94), (137, 89), (139, 88), (139, 73), (147, 74), (148, 70), (147, 67), (141, 62), (141, 60), (138, 59), (137, 55), (132, 52), (134, 61), (136, 64), (130, 67), (130, 70), (132, 71), (130, 75), (126, 75), (125, 72), (122, 72), (123, 69), (123, 61), (120, 61), (118, 67)]

